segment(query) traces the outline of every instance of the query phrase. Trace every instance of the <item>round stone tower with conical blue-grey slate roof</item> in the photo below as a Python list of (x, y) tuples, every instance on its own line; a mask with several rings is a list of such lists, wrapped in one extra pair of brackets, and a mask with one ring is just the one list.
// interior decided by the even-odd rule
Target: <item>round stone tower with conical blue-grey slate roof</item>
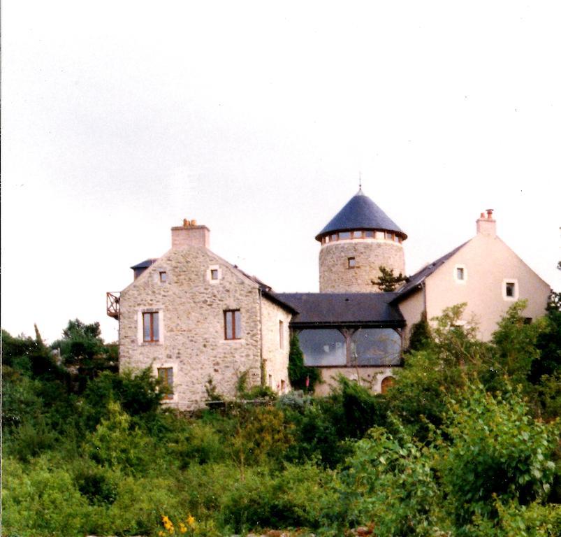
[(319, 292), (380, 292), (372, 284), (379, 267), (405, 273), (402, 242), (407, 235), (362, 189), (316, 236), (319, 252)]

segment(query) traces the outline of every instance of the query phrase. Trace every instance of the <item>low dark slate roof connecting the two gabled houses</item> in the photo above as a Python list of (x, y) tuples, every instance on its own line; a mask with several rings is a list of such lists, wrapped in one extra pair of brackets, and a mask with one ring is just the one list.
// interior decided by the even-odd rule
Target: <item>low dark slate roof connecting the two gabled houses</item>
[(391, 305), (395, 293), (270, 293), (298, 312), (294, 327), (346, 324), (403, 327), (405, 320)]

